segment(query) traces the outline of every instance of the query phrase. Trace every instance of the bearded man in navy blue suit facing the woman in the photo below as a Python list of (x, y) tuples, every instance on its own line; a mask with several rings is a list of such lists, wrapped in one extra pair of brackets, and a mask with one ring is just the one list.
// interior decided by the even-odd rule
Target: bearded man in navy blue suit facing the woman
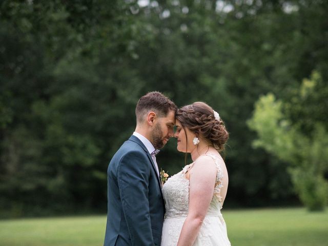
[(137, 125), (111, 159), (108, 214), (104, 246), (160, 245), (165, 205), (156, 150), (173, 136), (177, 107), (159, 92), (142, 96), (136, 106)]

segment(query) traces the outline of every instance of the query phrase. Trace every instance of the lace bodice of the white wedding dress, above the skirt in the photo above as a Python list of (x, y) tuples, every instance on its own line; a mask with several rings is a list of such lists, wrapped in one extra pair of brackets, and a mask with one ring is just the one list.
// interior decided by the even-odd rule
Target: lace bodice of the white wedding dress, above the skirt
[[(222, 198), (220, 190), (222, 188), (222, 167), (220, 165), (220, 158), (215, 155), (211, 156), (217, 167), (217, 175), (213, 198), (207, 215), (218, 215), (222, 208)], [(165, 199), (166, 217), (186, 217), (189, 210), (189, 180), (186, 178), (186, 173), (194, 165), (194, 162), (187, 165), (181, 172), (170, 177), (163, 185), (162, 193)]]

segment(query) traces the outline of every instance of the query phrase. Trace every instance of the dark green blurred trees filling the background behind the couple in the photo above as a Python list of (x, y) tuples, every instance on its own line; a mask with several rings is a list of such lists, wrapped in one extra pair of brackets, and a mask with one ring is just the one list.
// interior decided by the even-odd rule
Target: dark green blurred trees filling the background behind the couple
[[(1, 216), (106, 212), (109, 160), (134, 130), (138, 98), (153, 90), (179, 107), (206, 101), (226, 122), (225, 208), (299, 204), (311, 197), (297, 196), (293, 180), (314, 173), (325, 187), (327, 1), (4, 0), (0, 8)], [(297, 174), (314, 162), (316, 171)], [(158, 163), (170, 175), (185, 164), (174, 139)], [(318, 186), (309, 182), (311, 195)]]

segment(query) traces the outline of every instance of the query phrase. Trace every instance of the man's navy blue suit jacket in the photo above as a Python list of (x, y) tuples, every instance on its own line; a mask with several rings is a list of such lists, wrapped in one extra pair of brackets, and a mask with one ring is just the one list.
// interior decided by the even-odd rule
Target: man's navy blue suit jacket
[(165, 204), (155, 164), (136, 137), (120, 147), (108, 170), (104, 246), (160, 245)]

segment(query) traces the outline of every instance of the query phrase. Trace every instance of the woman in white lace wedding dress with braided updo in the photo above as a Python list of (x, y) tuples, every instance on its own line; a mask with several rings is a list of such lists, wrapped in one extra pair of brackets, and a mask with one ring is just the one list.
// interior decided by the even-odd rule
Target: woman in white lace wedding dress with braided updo
[(231, 245), (221, 208), (228, 172), (219, 152), (228, 132), (219, 114), (196, 102), (176, 113), (177, 149), (193, 162), (163, 185), (166, 218), (161, 246)]

